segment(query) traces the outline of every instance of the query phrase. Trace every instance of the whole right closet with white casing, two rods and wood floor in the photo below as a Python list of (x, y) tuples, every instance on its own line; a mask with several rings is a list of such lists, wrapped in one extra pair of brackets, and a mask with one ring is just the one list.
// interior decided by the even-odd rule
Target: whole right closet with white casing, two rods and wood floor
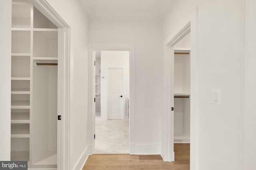
[[(190, 159), (190, 22), (166, 44), (165, 112), (162, 157), (173, 162), (180, 156)], [(175, 155), (180, 152), (184, 155)]]

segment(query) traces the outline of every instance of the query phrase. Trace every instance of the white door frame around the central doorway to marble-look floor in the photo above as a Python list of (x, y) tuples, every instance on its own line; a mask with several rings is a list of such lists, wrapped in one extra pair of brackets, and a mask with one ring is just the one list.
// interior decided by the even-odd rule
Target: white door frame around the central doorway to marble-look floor
[(129, 152), (135, 154), (135, 46), (132, 44), (89, 44), (88, 46), (88, 143), (93, 154), (95, 134), (95, 69), (94, 51), (129, 51)]

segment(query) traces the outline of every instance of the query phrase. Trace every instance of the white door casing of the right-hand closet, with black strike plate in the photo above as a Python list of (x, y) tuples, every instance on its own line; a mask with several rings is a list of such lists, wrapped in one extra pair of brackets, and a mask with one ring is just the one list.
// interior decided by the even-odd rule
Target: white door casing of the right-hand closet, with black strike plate
[[(164, 161), (174, 161), (174, 45), (191, 31), (191, 22), (185, 25), (166, 45), (164, 55), (164, 143), (162, 148), (162, 157)], [(190, 68), (191, 70), (191, 68)], [(194, 100), (194, 98), (191, 98)], [(191, 102), (192, 103), (192, 102)], [(190, 108), (191, 110), (191, 108)], [(192, 110), (191, 110), (192, 111)], [(190, 111), (190, 112), (191, 112)], [(190, 118), (191, 119), (191, 118)], [(191, 128), (191, 123), (190, 123)], [(190, 134), (191, 136), (191, 134)]]

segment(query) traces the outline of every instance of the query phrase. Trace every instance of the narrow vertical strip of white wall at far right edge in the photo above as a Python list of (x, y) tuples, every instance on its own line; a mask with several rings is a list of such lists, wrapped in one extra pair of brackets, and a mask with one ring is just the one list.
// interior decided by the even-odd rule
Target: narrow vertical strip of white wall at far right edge
[(245, 84), (245, 134), (244, 170), (256, 169), (256, 6), (255, 0), (246, 0), (246, 84)]

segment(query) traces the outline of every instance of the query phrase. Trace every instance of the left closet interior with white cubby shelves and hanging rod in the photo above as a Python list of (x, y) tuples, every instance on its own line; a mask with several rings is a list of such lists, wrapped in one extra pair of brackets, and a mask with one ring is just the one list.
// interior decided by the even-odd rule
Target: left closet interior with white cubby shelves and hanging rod
[(58, 27), (12, 2), (11, 160), (57, 169)]

